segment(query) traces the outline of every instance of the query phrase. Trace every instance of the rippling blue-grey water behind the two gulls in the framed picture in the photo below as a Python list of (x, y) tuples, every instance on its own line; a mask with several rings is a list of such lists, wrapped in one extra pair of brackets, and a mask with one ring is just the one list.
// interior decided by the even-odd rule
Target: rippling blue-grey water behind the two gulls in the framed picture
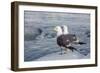
[[(90, 14), (24, 11), (24, 61), (37, 61), (60, 52), (56, 32), (53, 31), (57, 25), (67, 25), (71, 34), (76, 34), (80, 41), (86, 43), (73, 45), (80, 52), (78, 59), (90, 58)], [(56, 56), (50, 60), (56, 60)]]

